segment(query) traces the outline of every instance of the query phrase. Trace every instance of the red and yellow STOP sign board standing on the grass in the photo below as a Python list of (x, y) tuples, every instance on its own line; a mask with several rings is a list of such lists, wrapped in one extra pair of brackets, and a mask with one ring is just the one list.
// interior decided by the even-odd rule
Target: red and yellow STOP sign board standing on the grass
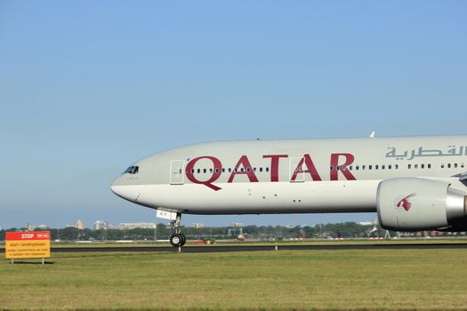
[(5, 242), (5, 258), (12, 259), (44, 259), (51, 257), (50, 231), (7, 232)]

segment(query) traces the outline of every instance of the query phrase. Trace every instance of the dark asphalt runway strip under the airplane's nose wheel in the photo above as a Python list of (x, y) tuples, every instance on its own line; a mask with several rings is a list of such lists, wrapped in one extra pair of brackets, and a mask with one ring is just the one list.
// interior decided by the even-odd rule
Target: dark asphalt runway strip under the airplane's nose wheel
[[(362, 244), (278, 244), (278, 251), (345, 251), (345, 250), (434, 250), (467, 249), (467, 243), (362, 243)], [(4, 251), (4, 250), (2, 250)], [(53, 252), (177, 252), (172, 246), (52, 247)], [(275, 251), (275, 245), (187, 245), (181, 252)]]

